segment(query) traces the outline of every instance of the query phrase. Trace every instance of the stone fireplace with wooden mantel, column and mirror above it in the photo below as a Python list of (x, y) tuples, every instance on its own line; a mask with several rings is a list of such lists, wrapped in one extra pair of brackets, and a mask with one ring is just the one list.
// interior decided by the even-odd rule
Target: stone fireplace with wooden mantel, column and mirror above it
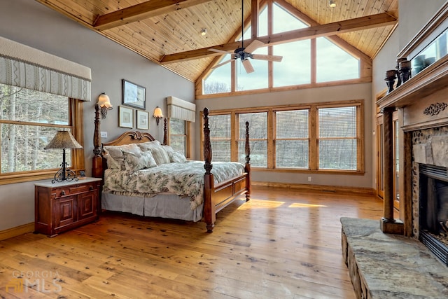
[[(377, 101), (384, 127), (383, 232), (419, 239), (448, 265), (448, 3), (421, 29), (398, 57), (435, 62)], [(441, 53), (441, 55), (438, 55)], [(400, 219), (393, 214), (393, 113), (398, 113)]]

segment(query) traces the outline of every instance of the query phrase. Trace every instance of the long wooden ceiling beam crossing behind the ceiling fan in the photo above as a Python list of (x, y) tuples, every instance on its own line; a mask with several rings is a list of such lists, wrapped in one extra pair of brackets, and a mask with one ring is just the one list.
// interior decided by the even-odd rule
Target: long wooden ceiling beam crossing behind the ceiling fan
[[(281, 43), (290, 43), (292, 41), (314, 39), (319, 36), (331, 36), (335, 34), (353, 32), (356, 30), (395, 25), (396, 22), (397, 18), (393, 17), (392, 15), (389, 15), (388, 13), (378, 13), (376, 15), (367, 15), (365, 17), (354, 18), (351, 20), (343, 20), (324, 25), (311, 26), (304, 29), (271, 34), (270, 36), (259, 36), (257, 39), (258, 41), (262, 41), (263, 43), (265, 43), (265, 46), (273, 46)], [(251, 41), (253, 41), (253, 39), (248, 39), (244, 41), (244, 43), (248, 45), (251, 43)], [(169, 64), (173, 62), (181, 62), (186, 60), (195, 60), (198, 58), (223, 55), (222, 53), (209, 51), (209, 49), (214, 48), (224, 51), (233, 51), (239, 47), (241, 47), (241, 41), (235, 41), (232, 43), (225, 43), (223, 45), (216, 45), (182, 53), (165, 55), (160, 59), (160, 63)]]

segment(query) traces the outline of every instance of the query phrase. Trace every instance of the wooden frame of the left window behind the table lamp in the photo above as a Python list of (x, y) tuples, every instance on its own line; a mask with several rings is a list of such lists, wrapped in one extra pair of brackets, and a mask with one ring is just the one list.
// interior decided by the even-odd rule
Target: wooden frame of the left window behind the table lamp
[[(73, 137), (80, 145), (84, 143), (84, 130), (83, 130), (83, 102), (80, 99), (73, 99), (67, 97), (69, 105), (69, 125), (58, 125), (57, 127), (65, 127), (71, 131)], [(18, 120), (0, 120), (0, 123), (13, 124), (13, 125), (27, 125), (28, 122), (22, 122)], [(34, 123), (33, 123), (34, 125)], [(44, 124), (43, 124), (44, 125)], [(62, 162), (62, 153), (61, 153)], [(6, 185), (9, 183), (21, 183), (26, 181), (38, 181), (42, 179), (51, 179), (55, 176), (59, 168), (43, 169), (43, 170), (31, 170), (25, 172), (9, 172), (6, 174), (0, 174), (0, 185)], [(85, 158), (84, 148), (71, 149), (71, 166), (70, 169), (73, 172), (79, 173), (80, 170), (85, 170)]]

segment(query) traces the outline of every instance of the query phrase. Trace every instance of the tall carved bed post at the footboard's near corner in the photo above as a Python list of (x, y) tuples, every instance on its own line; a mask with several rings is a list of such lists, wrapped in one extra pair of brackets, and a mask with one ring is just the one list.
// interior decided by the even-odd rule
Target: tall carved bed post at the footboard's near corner
[(209, 128), (209, 109), (204, 108), (204, 221), (207, 224), (207, 232), (213, 232), (216, 221), (215, 205), (211, 201), (211, 192), (214, 190), (214, 178), (211, 173), (211, 143)]

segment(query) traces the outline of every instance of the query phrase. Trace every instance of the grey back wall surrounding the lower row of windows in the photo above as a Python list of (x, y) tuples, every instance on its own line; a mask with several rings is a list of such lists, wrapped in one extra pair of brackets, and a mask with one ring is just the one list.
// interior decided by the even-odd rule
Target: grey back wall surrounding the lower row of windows
[[(309, 88), (285, 92), (271, 92), (269, 94), (241, 95), (215, 99), (199, 99), (196, 101), (198, 111), (204, 107), (210, 110), (246, 108), (255, 106), (302, 104), (315, 102), (345, 101), (350, 99), (364, 100), (365, 115), (365, 174), (363, 175), (330, 175), (330, 174), (303, 174), (295, 172), (267, 172), (254, 170), (253, 181), (276, 183), (311, 183), (325, 186), (356, 186), (373, 188), (372, 186), (372, 89), (370, 83), (352, 84), (344, 86)], [(199, 118), (199, 117), (198, 117)], [(196, 130), (201, 130), (197, 123)], [(196, 144), (200, 144), (200, 134), (197, 134)], [(197, 157), (200, 156), (197, 149)], [(369, 162), (367, 162), (369, 161)]]

